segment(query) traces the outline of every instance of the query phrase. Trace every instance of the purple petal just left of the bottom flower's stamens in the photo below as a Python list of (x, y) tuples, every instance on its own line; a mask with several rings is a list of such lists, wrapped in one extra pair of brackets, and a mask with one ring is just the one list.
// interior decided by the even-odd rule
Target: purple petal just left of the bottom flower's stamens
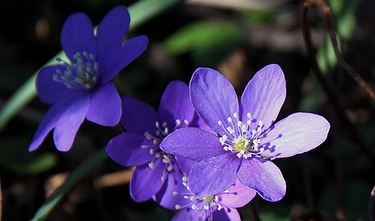
[[(167, 185), (153, 196), (153, 200), (167, 209), (176, 209), (176, 204), (190, 204), (189, 199), (185, 199), (185, 193), (189, 193), (188, 189), (183, 186), (183, 173), (169, 173)], [(177, 194), (174, 194), (176, 192)]]

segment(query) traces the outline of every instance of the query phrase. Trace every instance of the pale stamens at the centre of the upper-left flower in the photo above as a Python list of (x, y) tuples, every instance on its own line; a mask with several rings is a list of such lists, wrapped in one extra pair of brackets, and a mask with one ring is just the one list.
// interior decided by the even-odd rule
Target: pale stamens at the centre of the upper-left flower
[[(92, 89), (97, 84), (98, 63), (95, 62), (94, 55), (83, 51), (73, 55), (76, 62), (69, 64), (60, 58), (56, 60), (62, 62), (65, 70), (56, 69), (56, 74), (52, 76), (56, 82), (63, 83), (69, 89)], [(72, 61), (73, 62), (73, 61)]]

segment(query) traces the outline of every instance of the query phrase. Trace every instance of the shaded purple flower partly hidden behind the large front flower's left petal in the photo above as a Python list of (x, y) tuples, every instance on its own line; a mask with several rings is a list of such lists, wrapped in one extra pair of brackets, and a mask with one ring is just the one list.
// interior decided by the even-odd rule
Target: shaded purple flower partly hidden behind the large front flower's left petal
[(130, 193), (133, 200), (142, 202), (165, 188), (170, 177), (181, 174), (181, 166), (188, 163), (188, 159), (160, 150), (159, 143), (174, 130), (197, 125), (194, 107), (188, 86), (181, 81), (169, 83), (160, 100), (159, 113), (132, 98), (124, 97), (122, 103), (120, 122), (126, 132), (110, 140), (107, 152), (122, 166), (135, 166)]

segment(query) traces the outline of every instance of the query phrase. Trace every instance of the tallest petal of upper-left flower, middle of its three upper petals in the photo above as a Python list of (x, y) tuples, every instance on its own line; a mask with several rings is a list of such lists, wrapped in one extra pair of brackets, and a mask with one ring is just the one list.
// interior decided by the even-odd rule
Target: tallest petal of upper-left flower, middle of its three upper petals
[[(101, 20), (97, 29), (99, 82), (108, 82), (117, 74), (108, 70), (112, 69), (110, 65), (113, 65), (113, 58), (117, 58), (119, 54), (122, 38), (128, 30), (129, 23), (130, 16), (125, 6), (113, 8)], [(101, 76), (105, 79), (101, 79)]]

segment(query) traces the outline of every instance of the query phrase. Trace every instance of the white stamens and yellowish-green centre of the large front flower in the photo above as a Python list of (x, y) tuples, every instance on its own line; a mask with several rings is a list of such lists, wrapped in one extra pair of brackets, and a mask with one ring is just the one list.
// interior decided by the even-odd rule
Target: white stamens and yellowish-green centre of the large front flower
[[(225, 128), (222, 121), (217, 122), (226, 132), (226, 134), (219, 138), (220, 143), (224, 145), (223, 149), (236, 152), (238, 158), (244, 157), (244, 159), (251, 157), (252, 154), (261, 154), (264, 148), (258, 148), (260, 144), (258, 137), (262, 134), (263, 122), (258, 121), (258, 127), (251, 130), (252, 122), (250, 113), (247, 113), (248, 119), (246, 124), (240, 121), (237, 113), (234, 113), (233, 116), (236, 123), (233, 123), (233, 119), (229, 116), (227, 118), (227, 121), (231, 123), (229, 127)], [(237, 133), (235, 126), (237, 126)]]

